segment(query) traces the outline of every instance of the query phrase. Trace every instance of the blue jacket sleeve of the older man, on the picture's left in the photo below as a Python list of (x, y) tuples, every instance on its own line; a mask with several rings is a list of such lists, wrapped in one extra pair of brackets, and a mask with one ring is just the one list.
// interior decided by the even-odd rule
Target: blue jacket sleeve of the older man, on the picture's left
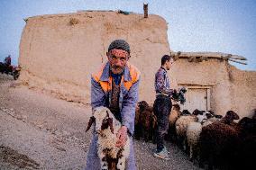
[(98, 106), (105, 106), (105, 93), (93, 77), (91, 78), (91, 106), (93, 110)]

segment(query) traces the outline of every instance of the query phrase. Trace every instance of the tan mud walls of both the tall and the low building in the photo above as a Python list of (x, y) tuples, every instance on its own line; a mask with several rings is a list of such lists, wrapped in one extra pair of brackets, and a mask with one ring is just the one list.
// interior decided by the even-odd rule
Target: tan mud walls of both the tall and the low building
[[(167, 22), (158, 15), (115, 12), (83, 12), (28, 18), (23, 29), (19, 81), (58, 97), (90, 103), (90, 76), (106, 61), (105, 52), (114, 39), (127, 40), (130, 62), (142, 72), (140, 100), (153, 103), (154, 74), (160, 58), (169, 54)], [(251, 116), (256, 108), (256, 72), (241, 71), (227, 61), (209, 58), (188, 62), (179, 58), (169, 71), (171, 86), (211, 87), (211, 109)]]

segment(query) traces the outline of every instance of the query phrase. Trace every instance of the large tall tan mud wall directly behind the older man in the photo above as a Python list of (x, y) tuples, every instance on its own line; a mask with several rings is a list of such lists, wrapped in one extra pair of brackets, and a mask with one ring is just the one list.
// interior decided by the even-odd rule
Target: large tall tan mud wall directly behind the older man
[(20, 81), (68, 101), (90, 103), (90, 76), (110, 42), (127, 40), (130, 62), (142, 72), (140, 99), (154, 98), (153, 78), (169, 54), (167, 22), (157, 15), (84, 12), (28, 18), (23, 29)]

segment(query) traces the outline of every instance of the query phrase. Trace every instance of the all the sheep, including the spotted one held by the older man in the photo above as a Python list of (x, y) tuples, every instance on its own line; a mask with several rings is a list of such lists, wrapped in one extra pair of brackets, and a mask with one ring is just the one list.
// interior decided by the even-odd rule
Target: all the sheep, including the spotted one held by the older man
[[(251, 169), (256, 154), (256, 113), (252, 118), (240, 121), (237, 113), (226, 112), (225, 116), (211, 111), (180, 111), (173, 105), (169, 115), (167, 140), (176, 142), (189, 155), (189, 159), (208, 169)], [(95, 123), (98, 137), (98, 157), (101, 169), (125, 169), (130, 153), (130, 142), (123, 148), (115, 147), (117, 130), (121, 123), (105, 107), (94, 110), (87, 130)], [(135, 114), (135, 139), (156, 142), (157, 117), (153, 108), (142, 101)]]

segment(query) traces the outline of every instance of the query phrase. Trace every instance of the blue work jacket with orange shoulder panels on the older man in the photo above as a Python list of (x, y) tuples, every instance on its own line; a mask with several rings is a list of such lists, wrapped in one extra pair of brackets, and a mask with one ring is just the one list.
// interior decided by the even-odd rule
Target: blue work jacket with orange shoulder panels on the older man
[[(124, 67), (120, 83), (119, 108), (122, 124), (133, 135), (135, 106), (138, 101), (140, 71), (129, 62)], [(91, 78), (91, 106), (108, 107), (111, 101), (112, 76), (110, 75), (110, 63), (105, 63)]]

